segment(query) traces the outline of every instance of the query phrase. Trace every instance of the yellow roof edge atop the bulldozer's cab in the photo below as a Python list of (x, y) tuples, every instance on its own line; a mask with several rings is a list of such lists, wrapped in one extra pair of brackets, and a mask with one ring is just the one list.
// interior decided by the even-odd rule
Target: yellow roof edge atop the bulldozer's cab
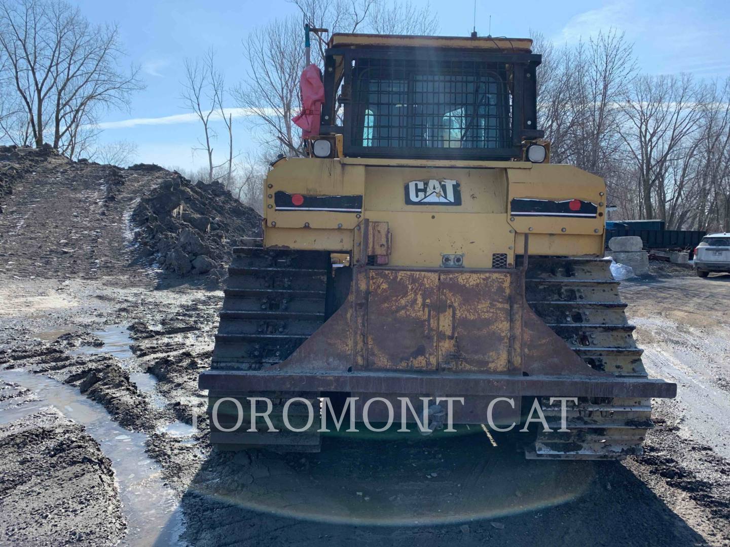
[(529, 38), (492, 38), (491, 36), (408, 36), (404, 34), (335, 33), (329, 47), (450, 47), (456, 49), (495, 50), (531, 53)]

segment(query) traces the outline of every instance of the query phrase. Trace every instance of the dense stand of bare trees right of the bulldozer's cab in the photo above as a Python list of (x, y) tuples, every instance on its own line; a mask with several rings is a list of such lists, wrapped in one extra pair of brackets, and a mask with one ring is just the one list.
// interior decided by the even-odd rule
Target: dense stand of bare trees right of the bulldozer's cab
[(730, 224), (730, 79), (636, 74), (631, 46), (609, 31), (542, 53), (538, 122), (551, 160), (604, 177), (613, 220), (661, 218), (669, 228)]

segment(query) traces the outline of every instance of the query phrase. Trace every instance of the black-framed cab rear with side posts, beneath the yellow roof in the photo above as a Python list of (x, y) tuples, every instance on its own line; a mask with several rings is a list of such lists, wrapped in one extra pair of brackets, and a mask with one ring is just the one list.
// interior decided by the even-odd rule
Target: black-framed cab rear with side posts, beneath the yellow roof
[[(542, 136), (534, 125), (540, 55), (377, 47), (326, 55), (329, 96), (340, 86), (337, 66), (344, 76), (345, 156), (510, 160), (521, 158), (523, 139)], [(335, 104), (324, 109), (326, 125)]]

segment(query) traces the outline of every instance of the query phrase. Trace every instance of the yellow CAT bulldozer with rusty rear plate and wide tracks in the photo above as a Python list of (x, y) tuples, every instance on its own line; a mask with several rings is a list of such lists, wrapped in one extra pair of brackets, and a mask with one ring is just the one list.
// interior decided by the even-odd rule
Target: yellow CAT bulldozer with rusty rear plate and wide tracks
[(550, 427), (523, 434), (529, 458), (641, 454), (650, 398), (677, 388), (648, 378), (603, 259), (603, 180), (550, 163), (531, 45), (331, 36), (307, 157), (272, 165), (264, 236), (228, 269), (199, 378), (227, 408), (212, 443), (320, 449), (316, 419), (237, 420), (253, 397), (272, 419), (293, 397), (351, 397), (356, 422), (386, 423), (366, 401), (428, 397), (438, 416), (458, 397), (454, 424), (522, 424), (537, 404)]

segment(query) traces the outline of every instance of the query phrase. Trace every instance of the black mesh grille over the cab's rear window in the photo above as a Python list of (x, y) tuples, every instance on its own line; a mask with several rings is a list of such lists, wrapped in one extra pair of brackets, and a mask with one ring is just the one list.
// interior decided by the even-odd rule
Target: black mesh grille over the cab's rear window
[(353, 67), (352, 144), (358, 147), (510, 147), (504, 64), (360, 58)]

